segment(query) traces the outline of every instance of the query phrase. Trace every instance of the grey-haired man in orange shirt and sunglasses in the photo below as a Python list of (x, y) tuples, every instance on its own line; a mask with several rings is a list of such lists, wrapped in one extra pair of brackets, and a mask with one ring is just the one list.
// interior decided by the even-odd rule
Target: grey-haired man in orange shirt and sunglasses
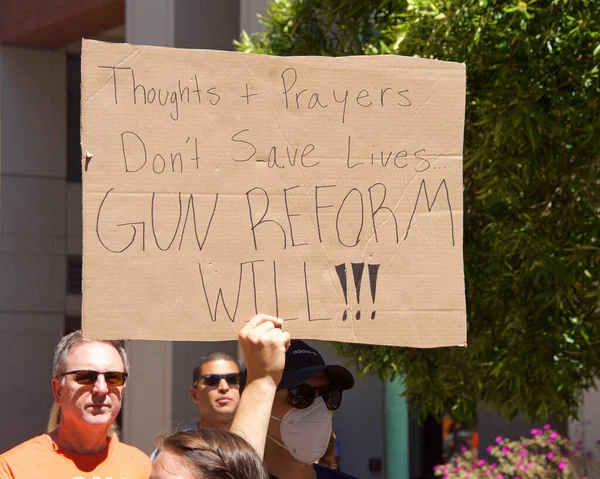
[(86, 341), (81, 331), (71, 333), (58, 343), (52, 369), (58, 427), (2, 454), (0, 478), (146, 479), (150, 458), (107, 438), (129, 372), (122, 341)]

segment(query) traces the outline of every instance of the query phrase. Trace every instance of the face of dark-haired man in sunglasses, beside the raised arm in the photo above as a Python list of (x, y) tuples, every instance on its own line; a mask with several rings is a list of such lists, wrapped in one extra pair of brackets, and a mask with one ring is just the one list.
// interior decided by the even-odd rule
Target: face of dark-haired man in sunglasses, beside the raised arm
[[(204, 363), (200, 368), (201, 376), (230, 373), (239, 373), (239, 368), (235, 362), (225, 359)], [(202, 421), (208, 423), (231, 421), (240, 402), (239, 386), (230, 386), (224, 378), (216, 386), (206, 385), (201, 379), (190, 387), (190, 394), (198, 404)]]

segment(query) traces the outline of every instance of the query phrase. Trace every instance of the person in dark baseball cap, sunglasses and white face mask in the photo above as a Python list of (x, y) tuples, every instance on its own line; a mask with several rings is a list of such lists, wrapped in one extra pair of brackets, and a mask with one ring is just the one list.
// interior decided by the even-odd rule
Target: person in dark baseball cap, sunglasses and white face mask
[[(240, 391), (245, 385), (241, 374)], [(333, 411), (343, 392), (354, 386), (346, 368), (325, 364), (304, 341), (292, 340), (277, 386), (267, 430), (265, 462), (273, 479), (351, 479), (315, 464), (327, 450)]]

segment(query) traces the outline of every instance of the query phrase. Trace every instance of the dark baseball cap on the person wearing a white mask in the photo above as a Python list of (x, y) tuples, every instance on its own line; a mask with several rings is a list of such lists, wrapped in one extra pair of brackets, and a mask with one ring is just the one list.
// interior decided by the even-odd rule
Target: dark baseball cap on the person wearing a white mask
[[(342, 391), (354, 386), (354, 376), (345, 367), (325, 364), (319, 351), (304, 341), (293, 339), (285, 353), (285, 367), (277, 389), (296, 387), (320, 372), (324, 372), (329, 382)], [(246, 385), (246, 368), (240, 376), (240, 391), (242, 391)]]

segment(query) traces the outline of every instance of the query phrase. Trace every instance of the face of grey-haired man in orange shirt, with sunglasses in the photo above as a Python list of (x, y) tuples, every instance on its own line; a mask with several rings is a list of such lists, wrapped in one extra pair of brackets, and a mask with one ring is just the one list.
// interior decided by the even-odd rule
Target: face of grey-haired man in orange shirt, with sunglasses
[[(124, 370), (117, 350), (108, 343), (96, 341), (82, 341), (69, 351), (66, 371), (80, 369), (98, 372)], [(109, 425), (121, 410), (124, 388), (125, 385), (108, 385), (103, 375), (98, 375), (91, 385), (78, 384), (73, 374), (52, 379), (54, 399), (62, 409), (61, 424)]]

